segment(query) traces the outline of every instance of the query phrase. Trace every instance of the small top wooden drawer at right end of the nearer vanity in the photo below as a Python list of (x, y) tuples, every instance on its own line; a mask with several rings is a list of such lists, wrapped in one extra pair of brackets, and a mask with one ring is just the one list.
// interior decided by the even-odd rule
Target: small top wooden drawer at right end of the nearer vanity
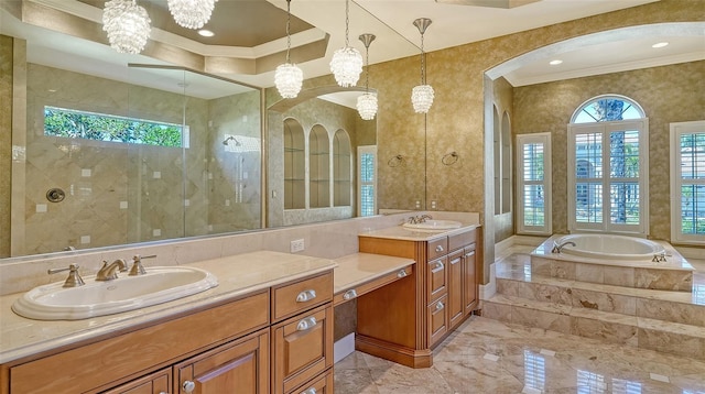
[(272, 320), (281, 320), (333, 299), (333, 271), (275, 287)]

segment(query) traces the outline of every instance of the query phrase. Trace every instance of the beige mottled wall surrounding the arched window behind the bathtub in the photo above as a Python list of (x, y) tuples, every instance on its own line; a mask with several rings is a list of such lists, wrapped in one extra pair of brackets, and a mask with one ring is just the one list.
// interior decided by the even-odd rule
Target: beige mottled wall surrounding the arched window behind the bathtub
[(705, 62), (568, 79), (514, 89), (517, 134), (551, 132), (553, 229), (567, 232), (567, 129), (573, 112), (605, 94), (627, 96), (649, 118), (650, 237), (669, 240), (669, 123), (705, 119)]

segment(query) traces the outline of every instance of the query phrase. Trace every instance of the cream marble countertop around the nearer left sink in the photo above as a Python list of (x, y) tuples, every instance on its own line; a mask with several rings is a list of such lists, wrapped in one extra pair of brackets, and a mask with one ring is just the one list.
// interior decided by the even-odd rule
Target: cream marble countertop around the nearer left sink
[[(336, 267), (336, 262), (300, 254), (258, 251), (187, 265), (216, 275), (218, 286), (169, 303), (83, 320), (28, 319), (11, 310), (14, 300), (23, 293), (0, 297), (0, 363), (118, 332), (195, 308), (219, 305), (270, 286), (326, 272)], [(145, 264), (145, 269), (149, 270), (149, 265)]]

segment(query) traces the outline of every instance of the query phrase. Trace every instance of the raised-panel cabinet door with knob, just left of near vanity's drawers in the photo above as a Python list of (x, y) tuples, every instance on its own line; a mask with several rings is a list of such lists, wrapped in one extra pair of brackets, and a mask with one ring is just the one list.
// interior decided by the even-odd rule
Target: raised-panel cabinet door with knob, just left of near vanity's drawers
[(174, 365), (174, 393), (269, 393), (269, 330)]

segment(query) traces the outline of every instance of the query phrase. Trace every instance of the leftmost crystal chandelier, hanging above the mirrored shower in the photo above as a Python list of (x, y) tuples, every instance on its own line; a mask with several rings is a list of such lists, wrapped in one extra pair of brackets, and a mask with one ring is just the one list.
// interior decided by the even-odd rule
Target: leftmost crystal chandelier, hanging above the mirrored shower
[(110, 46), (120, 53), (138, 54), (150, 37), (150, 17), (135, 0), (110, 0), (102, 10), (102, 30)]

